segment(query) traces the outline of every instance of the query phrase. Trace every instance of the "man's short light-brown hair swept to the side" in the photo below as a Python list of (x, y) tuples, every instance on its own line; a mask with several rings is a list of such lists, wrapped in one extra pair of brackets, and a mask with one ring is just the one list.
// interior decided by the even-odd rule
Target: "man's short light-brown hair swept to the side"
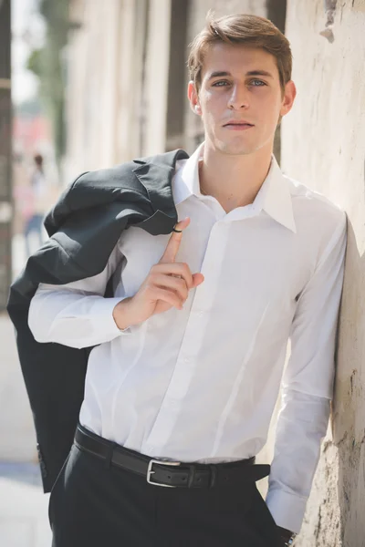
[(222, 42), (232, 46), (243, 44), (261, 47), (274, 56), (280, 87), (284, 92), (285, 85), (291, 79), (292, 71), (292, 54), (287, 37), (265, 17), (236, 14), (214, 19), (212, 11), (208, 12), (206, 17), (206, 26), (190, 44), (188, 67), (198, 92), (202, 84), (204, 56), (209, 46)]

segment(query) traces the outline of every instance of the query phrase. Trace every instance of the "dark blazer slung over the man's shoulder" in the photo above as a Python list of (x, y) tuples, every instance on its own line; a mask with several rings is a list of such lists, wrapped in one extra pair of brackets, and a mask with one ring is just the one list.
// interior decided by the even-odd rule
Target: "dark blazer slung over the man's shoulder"
[[(175, 150), (79, 176), (47, 214), (50, 239), (10, 288), (7, 311), (16, 327), (45, 491), (52, 489), (73, 442), (91, 348), (37, 343), (27, 324), (30, 301), (40, 283), (67, 284), (102, 272), (130, 225), (152, 235), (172, 232), (172, 176), (176, 160), (188, 157)], [(105, 296), (112, 295), (110, 286), (111, 280)]]

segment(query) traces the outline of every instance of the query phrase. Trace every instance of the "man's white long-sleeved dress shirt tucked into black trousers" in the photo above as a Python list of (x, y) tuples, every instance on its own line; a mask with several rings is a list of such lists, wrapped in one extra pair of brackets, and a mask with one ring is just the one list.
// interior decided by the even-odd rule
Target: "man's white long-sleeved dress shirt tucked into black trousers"
[[(191, 218), (176, 260), (205, 278), (183, 310), (115, 324), (114, 306), (136, 294), (170, 238), (131, 227), (101, 274), (41, 284), (29, 326), (38, 342), (96, 346), (80, 423), (153, 458), (255, 456), (282, 386), (266, 502), (298, 532), (328, 426), (346, 216), (284, 176), (274, 156), (254, 203), (226, 213), (200, 192), (202, 147), (172, 181), (179, 219)], [(104, 298), (115, 272), (115, 297)]]

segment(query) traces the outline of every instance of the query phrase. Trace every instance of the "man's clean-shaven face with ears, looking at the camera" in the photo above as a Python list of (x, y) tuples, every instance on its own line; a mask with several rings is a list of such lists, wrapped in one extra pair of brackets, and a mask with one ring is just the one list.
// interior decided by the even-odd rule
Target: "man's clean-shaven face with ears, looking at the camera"
[(296, 88), (288, 82), (283, 95), (276, 59), (265, 50), (214, 44), (204, 57), (199, 94), (191, 82), (188, 95), (214, 150), (245, 155), (272, 150), (279, 117), (292, 107)]

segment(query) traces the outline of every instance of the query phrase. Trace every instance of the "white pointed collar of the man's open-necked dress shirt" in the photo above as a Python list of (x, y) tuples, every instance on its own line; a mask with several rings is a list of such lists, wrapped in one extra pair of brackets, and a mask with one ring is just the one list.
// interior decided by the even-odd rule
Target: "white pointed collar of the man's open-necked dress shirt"
[[(192, 195), (198, 198), (204, 197), (199, 185), (199, 159), (203, 155), (203, 144), (194, 151), (189, 160), (176, 162), (177, 170), (172, 183), (175, 205), (187, 200)], [(289, 181), (280, 170), (274, 155), (272, 155), (266, 179), (251, 206), (256, 212), (265, 211), (272, 219), (288, 230), (297, 232)], [(238, 209), (240, 208), (235, 211), (238, 211)]]

